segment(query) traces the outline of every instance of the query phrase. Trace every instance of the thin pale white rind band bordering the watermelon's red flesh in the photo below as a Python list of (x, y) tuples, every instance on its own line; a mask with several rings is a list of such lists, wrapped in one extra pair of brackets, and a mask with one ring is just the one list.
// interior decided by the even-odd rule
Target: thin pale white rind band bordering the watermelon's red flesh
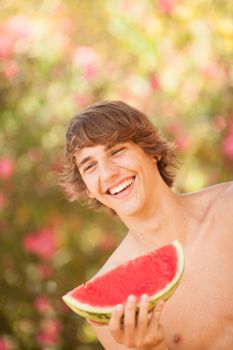
[[(178, 282), (182, 276), (182, 273), (184, 270), (183, 248), (177, 240), (173, 241), (171, 244), (173, 244), (176, 247), (176, 251), (178, 255), (178, 269), (172, 281), (168, 283), (165, 288), (161, 289), (158, 293), (154, 294), (153, 296), (150, 296), (151, 304), (155, 304), (156, 301), (160, 299), (164, 299), (164, 300), (168, 299), (175, 291), (176, 287), (178, 286)], [(71, 297), (69, 293), (64, 295), (62, 299), (73, 311), (79, 313), (79, 310), (80, 310), (81, 312), (79, 314), (84, 317), (86, 317), (84, 314), (88, 314), (88, 313), (110, 314), (115, 308), (115, 305), (98, 308), (98, 306), (91, 306), (89, 304), (80, 303), (79, 301)]]

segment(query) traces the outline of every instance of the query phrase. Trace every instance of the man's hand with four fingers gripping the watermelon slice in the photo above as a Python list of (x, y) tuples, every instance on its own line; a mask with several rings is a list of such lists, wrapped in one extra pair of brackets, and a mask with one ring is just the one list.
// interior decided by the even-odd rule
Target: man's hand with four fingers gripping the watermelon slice
[[(109, 330), (114, 340), (127, 348), (139, 350), (166, 350), (168, 349), (164, 337), (164, 330), (159, 323), (163, 308), (160, 301), (148, 312), (149, 297), (143, 295), (140, 300), (140, 308), (136, 316), (136, 298), (128, 297), (125, 307), (117, 305), (109, 322)], [(124, 323), (121, 317), (124, 314)]]

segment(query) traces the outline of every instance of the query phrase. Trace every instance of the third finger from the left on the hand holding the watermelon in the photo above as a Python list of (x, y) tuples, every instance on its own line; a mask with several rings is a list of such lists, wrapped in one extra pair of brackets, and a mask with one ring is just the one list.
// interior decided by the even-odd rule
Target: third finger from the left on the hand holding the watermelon
[(140, 309), (137, 318), (137, 346), (141, 346), (147, 332), (149, 321), (149, 301), (149, 296), (143, 294), (140, 300)]

